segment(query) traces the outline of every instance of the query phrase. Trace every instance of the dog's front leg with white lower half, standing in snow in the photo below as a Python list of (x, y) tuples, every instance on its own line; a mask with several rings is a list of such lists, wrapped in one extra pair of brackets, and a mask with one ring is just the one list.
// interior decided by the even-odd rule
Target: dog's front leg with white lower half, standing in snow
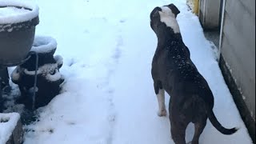
[(162, 82), (154, 82), (154, 91), (158, 98), (158, 116), (166, 116), (165, 90), (162, 88)]

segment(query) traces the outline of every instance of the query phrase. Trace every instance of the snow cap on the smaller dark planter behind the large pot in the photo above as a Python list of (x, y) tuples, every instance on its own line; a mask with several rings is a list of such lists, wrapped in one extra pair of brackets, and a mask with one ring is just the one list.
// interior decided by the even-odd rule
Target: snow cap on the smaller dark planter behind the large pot
[(47, 53), (57, 48), (57, 42), (54, 38), (49, 36), (38, 36), (34, 37), (33, 46), (30, 51), (37, 53)]

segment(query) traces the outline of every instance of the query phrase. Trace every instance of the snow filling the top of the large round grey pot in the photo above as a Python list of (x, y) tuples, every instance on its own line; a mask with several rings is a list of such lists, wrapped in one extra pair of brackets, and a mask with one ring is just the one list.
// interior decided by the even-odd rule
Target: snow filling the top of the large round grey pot
[[(22, 8), (19, 9), (17, 7)], [(36, 18), (37, 16), (38, 6), (35, 5), (34, 2), (20, 0), (0, 0), (0, 25), (26, 22)]]

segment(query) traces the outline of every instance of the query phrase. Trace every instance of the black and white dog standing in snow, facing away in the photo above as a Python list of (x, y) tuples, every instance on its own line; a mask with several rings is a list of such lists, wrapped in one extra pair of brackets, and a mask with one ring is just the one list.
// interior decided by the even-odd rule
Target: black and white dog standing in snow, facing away
[(194, 123), (192, 144), (198, 144), (207, 118), (222, 134), (234, 134), (238, 129), (226, 129), (214, 115), (214, 95), (206, 79), (190, 59), (190, 50), (182, 41), (174, 4), (155, 7), (150, 13), (150, 26), (158, 38), (151, 74), (158, 99), (158, 116), (166, 116), (165, 91), (170, 95), (170, 133), (175, 144), (186, 144), (186, 127)]

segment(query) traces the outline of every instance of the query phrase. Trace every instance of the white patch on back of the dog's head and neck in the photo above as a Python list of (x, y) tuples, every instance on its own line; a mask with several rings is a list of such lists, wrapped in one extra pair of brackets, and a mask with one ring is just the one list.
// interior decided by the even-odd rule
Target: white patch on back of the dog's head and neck
[(166, 23), (166, 26), (172, 28), (174, 30), (174, 34), (180, 33), (175, 14), (167, 6), (162, 6), (161, 9), (162, 11), (159, 11), (160, 21)]

